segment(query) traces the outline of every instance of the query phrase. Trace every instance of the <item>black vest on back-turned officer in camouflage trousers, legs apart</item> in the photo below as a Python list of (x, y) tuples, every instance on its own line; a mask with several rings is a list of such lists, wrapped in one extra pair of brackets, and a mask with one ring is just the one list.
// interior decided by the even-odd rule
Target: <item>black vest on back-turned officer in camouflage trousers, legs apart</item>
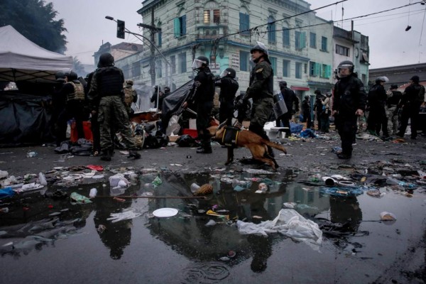
[(121, 96), (123, 94), (123, 78), (117, 67), (104, 67), (97, 71), (99, 94), (101, 97)]

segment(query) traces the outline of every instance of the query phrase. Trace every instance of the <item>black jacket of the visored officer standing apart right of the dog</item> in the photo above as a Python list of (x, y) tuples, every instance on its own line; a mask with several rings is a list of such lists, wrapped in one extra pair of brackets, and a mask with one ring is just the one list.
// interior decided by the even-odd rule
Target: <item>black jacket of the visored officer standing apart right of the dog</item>
[(348, 77), (340, 78), (334, 84), (333, 111), (340, 115), (354, 115), (357, 109), (365, 111), (367, 95), (364, 84), (352, 73)]

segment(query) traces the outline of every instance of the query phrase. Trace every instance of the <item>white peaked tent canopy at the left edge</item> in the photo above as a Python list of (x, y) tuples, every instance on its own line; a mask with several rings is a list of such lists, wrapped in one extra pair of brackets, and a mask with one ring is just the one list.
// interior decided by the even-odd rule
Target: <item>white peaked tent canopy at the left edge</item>
[(52, 81), (56, 72), (71, 68), (72, 56), (45, 50), (12, 26), (0, 28), (0, 81)]

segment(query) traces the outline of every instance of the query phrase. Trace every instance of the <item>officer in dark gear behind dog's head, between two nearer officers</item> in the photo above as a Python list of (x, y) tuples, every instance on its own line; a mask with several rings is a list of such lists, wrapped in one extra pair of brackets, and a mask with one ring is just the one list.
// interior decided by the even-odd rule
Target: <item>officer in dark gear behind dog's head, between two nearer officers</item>
[(219, 94), (219, 122), (222, 124), (226, 119), (226, 125), (232, 125), (234, 118), (234, 100), (236, 91), (239, 88), (238, 82), (235, 80), (236, 72), (232, 68), (226, 68), (222, 71), (219, 80), (214, 85), (220, 87)]

